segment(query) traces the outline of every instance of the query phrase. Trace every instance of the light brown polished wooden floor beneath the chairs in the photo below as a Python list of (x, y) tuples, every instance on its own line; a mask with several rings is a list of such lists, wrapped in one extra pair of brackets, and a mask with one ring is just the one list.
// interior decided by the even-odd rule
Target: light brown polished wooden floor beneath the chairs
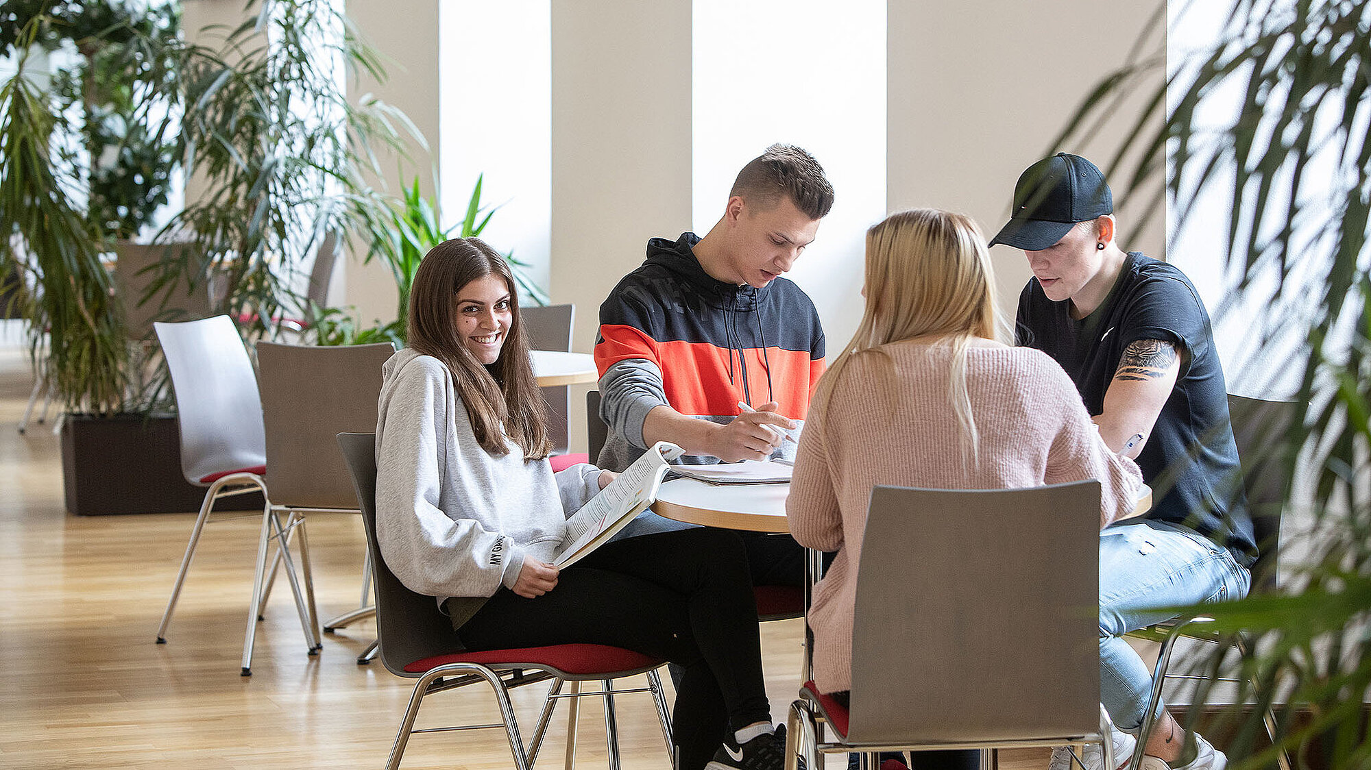
[[(48, 425), (15, 426), (33, 384), (27, 360), (0, 347), (0, 767), (383, 767), (411, 682), (355, 656), (363, 622), (306, 654), (289, 592), (259, 623), (252, 675), (239, 675), (259, 519), (211, 523), (167, 644), (156, 628), (192, 514), (73, 517), (63, 510), (58, 441)], [(310, 519), (319, 611), (356, 606), (363, 540), (356, 518)], [(776, 719), (794, 697), (799, 621), (764, 623), (766, 689)], [(666, 677), (664, 677), (666, 678)], [(525, 734), (539, 685), (517, 691)], [(668, 685), (669, 686), (669, 685)], [(618, 699), (624, 767), (668, 767), (644, 695)], [(425, 703), (420, 726), (498, 718), (477, 689)], [(540, 766), (561, 763), (565, 719)], [(605, 767), (603, 721), (581, 710), (581, 767)], [(415, 736), (403, 767), (510, 767), (498, 732)], [(1019, 752), (1006, 770), (1046, 766)]]

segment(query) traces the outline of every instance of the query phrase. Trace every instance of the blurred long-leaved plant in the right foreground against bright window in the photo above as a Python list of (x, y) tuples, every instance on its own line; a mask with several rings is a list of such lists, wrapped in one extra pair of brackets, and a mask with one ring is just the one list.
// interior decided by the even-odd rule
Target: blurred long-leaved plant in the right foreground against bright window
[[(1183, 11), (1182, 11), (1183, 14)], [(1165, 14), (1158, 14), (1160, 19)], [(1185, 16), (1182, 15), (1182, 19)], [(1154, 30), (1149, 30), (1149, 34)], [(1143, 37), (1148, 37), (1145, 34)], [(1164, 52), (1106, 77), (1056, 142), (1086, 137), (1117, 97), (1146, 89), (1143, 114), (1106, 170), (1124, 195), (1172, 203), (1171, 226), (1200, 221), (1222, 201), (1226, 260), (1243, 297), (1308, 297), (1282, 316), (1298, 345), (1278, 358), (1300, 373), (1301, 404), (1278, 459), (1311, 475), (1312, 499), (1293, 496), (1312, 530), (1286, 538), (1282, 582), (1241, 601), (1193, 607), (1213, 628), (1246, 632), (1250, 655), (1217, 649), (1200, 669), (1237, 671), (1238, 704), (1215, 718), (1233, 732), (1235, 769), (1267, 767), (1260, 706), (1275, 703), (1276, 743), (1297, 765), (1334, 770), (1371, 765), (1364, 701), (1371, 692), (1371, 5), (1334, 0), (1228, 0), (1223, 32), (1189, 56), (1160, 89)], [(1160, 125), (1160, 130), (1156, 126)], [(1132, 158), (1124, 162), (1124, 158)], [(1274, 288), (1265, 289), (1271, 285)], [(1275, 345), (1254, 336), (1250, 345)], [(1256, 684), (1250, 684), (1254, 681)], [(1211, 685), (1193, 696), (1204, 703)], [(1257, 707), (1243, 706), (1256, 703)], [(1194, 715), (1194, 714), (1191, 714)]]

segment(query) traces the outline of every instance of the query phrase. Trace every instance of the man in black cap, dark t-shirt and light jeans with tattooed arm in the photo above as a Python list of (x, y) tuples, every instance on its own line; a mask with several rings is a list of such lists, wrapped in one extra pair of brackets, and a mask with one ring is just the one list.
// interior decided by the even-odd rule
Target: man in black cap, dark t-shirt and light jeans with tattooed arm
[[(1034, 273), (1019, 297), (1017, 343), (1067, 370), (1105, 444), (1134, 458), (1153, 488), (1146, 517), (1100, 534), (1100, 689), (1123, 730), (1113, 736), (1123, 766), (1152, 686), (1123, 634), (1168, 619), (1154, 607), (1243, 596), (1257, 551), (1209, 315), (1180, 270), (1124, 252), (1115, 233), (1104, 174), (1061, 152), (1019, 177), (1012, 218), (990, 245), (1023, 249)], [(1146, 770), (1227, 763), (1165, 711), (1145, 740)], [(1057, 749), (1052, 770), (1069, 762)], [(1086, 765), (1101, 770), (1098, 749)]]

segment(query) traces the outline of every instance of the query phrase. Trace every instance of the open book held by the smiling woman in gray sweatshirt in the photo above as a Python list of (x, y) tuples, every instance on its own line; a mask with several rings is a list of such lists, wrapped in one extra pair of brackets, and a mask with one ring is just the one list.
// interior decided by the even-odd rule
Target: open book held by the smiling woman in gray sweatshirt
[(676, 444), (653, 444), (613, 484), (600, 489), (599, 495), (566, 519), (566, 538), (553, 563), (558, 567), (569, 566), (624, 529), (633, 517), (653, 504), (662, 477), (673, 467), (668, 463), (683, 454)]

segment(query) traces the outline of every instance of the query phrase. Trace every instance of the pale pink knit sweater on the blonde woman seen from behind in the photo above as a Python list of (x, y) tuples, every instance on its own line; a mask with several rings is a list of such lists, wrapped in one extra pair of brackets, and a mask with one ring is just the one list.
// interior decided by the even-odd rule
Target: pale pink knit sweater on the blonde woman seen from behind
[(1095, 478), (1101, 527), (1137, 501), (1138, 466), (1104, 445), (1067, 373), (1030, 348), (967, 349), (980, 462), (965, 467), (947, 396), (950, 366), (946, 345), (866, 351), (839, 373), (831, 399), (809, 411), (786, 515), (802, 545), (838, 551), (809, 610), (823, 692), (851, 689), (857, 564), (873, 485), (1009, 489)]

